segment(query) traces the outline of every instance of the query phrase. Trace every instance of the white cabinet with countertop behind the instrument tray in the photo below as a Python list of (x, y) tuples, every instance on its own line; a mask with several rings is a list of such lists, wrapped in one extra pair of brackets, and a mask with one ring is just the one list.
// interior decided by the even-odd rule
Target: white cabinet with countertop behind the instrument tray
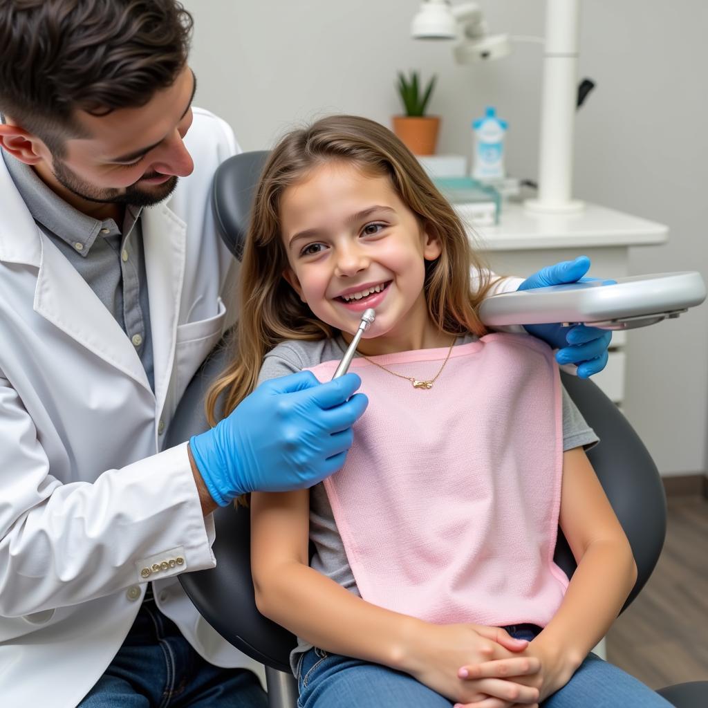
[[(455, 209), (465, 220), (464, 205)], [(502, 202), (497, 226), (468, 225), (467, 233), (500, 275), (530, 275), (544, 265), (584, 255), (593, 263), (590, 275), (624, 278), (634, 275), (629, 273), (629, 247), (665, 243), (668, 227), (593, 204), (578, 214), (538, 215), (526, 212), (521, 204)], [(626, 341), (626, 332), (613, 333), (607, 367), (593, 377), (617, 404), (624, 400)]]

